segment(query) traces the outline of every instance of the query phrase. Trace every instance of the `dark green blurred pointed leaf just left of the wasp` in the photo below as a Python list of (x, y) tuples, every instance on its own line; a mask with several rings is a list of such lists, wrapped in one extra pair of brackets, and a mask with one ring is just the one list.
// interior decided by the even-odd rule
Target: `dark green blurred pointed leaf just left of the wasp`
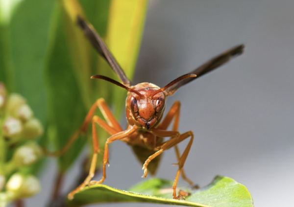
[[(80, 127), (86, 107), (73, 72), (73, 62), (67, 45), (62, 20), (62, 8), (55, 4), (51, 25), (49, 49), (45, 66), (49, 94), (49, 127), (47, 137), (56, 150), (61, 149)], [(78, 156), (85, 139), (78, 138), (68, 152), (59, 157), (59, 167), (65, 171)]]

